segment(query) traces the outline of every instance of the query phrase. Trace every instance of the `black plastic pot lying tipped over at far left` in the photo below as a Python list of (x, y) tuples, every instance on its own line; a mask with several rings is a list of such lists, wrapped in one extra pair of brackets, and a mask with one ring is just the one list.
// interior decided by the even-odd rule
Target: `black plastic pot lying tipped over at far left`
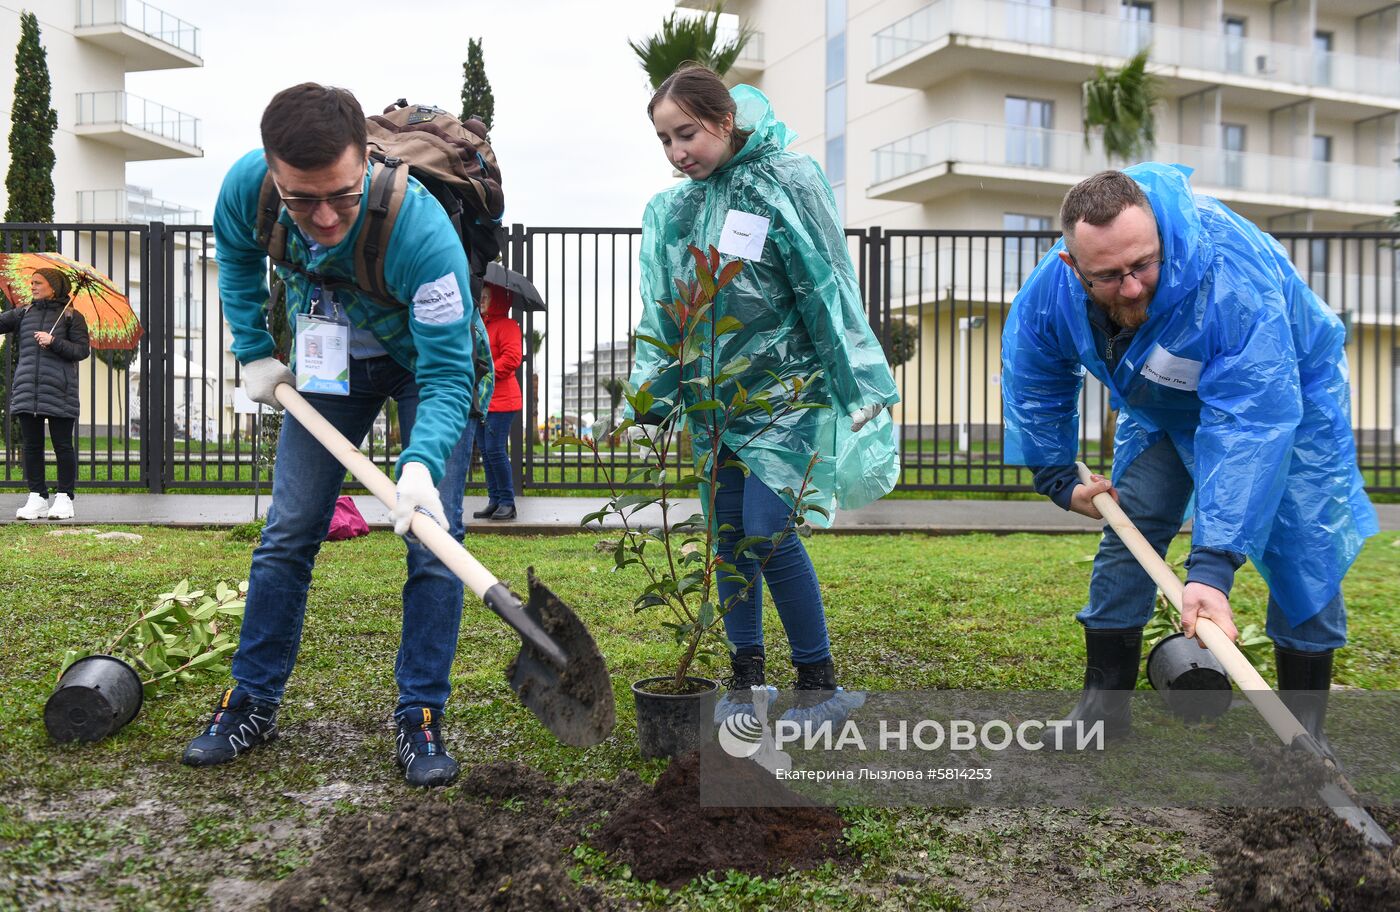
[(80, 658), (59, 678), (43, 705), (43, 727), (55, 741), (101, 741), (141, 712), (141, 677), (112, 656)]

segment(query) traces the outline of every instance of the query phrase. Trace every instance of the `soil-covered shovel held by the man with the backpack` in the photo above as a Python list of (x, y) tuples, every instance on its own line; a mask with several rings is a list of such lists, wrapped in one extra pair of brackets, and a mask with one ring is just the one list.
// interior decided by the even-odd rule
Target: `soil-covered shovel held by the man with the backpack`
[[(360, 448), (330, 426), (290, 384), (277, 401), (361, 485), (393, 507), (395, 485)], [(598, 644), (578, 616), (529, 570), (529, 601), (512, 593), (427, 514), (413, 517), (413, 535), (521, 637), (507, 667), (511, 689), (545, 727), (571, 747), (591, 747), (612, 731), (613, 692)]]

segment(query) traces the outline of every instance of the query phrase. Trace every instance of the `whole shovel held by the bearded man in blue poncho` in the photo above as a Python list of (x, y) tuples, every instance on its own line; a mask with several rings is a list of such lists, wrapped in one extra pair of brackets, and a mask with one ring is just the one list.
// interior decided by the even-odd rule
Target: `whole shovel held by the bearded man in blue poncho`
[[(1089, 478), (1089, 468), (1084, 462), (1077, 462), (1079, 469), (1079, 481), (1085, 485), (1092, 485), (1093, 481)], [(1113, 495), (1107, 492), (1098, 495), (1093, 499), (1093, 506), (1098, 507), (1103, 518), (1109, 521), (1113, 531), (1119, 534), (1123, 544), (1127, 545), (1137, 562), (1142, 565), (1147, 574), (1152, 577), (1158, 588), (1170, 600), (1176, 609), (1182, 609), (1182, 580), (1172, 572), (1172, 567), (1162, 560), (1161, 555), (1142, 538), (1142, 532), (1137, 531), (1133, 525), (1133, 520), (1128, 518), (1123, 509), (1113, 500)], [(1313, 740), (1308, 730), (1303, 728), (1302, 723), (1284, 706), (1284, 702), (1278, 699), (1278, 693), (1270, 688), (1264, 679), (1254, 671), (1254, 665), (1249, 664), (1245, 654), (1239, 651), (1239, 647), (1228, 636), (1225, 630), (1221, 630), (1210, 618), (1197, 618), (1196, 621), (1196, 636), (1200, 637), (1201, 643), (1205, 644), (1208, 650), (1225, 665), (1225, 671), (1229, 677), (1235, 679), (1239, 689), (1249, 698), (1249, 702), (1254, 705), (1259, 714), (1264, 717), (1268, 727), (1274, 730), (1278, 740), (1285, 745), (1298, 745), (1306, 749), (1313, 756), (1317, 756), (1324, 764), (1327, 764), (1331, 773), (1336, 776), (1337, 782), (1329, 782), (1327, 785), (1317, 789), (1317, 794), (1327, 807), (1331, 808), (1333, 814), (1347, 821), (1347, 824), (1358, 831), (1366, 842), (1378, 849), (1389, 849), (1393, 843), (1386, 831), (1380, 828), (1380, 824), (1366, 814), (1366, 811), (1355, 803), (1355, 800), (1348, 794), (1354, 790), (1345, 778), (1337, 772), (1337, 768), (1327, 759), (1323, 754), (1322, 747)], [(1343, 790), (1341, 786), (1345, 786)]]

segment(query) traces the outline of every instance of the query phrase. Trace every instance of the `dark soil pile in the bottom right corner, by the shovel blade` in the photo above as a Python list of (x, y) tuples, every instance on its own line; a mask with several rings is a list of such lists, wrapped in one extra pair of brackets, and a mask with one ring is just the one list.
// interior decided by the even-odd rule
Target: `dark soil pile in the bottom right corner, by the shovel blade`
[[(1334, 776), (1320, 761), (1277, 748), (1260, 762), (1275, 797), (1306, 806), (1222, 815), (1222, 838), (1212, 850), (1221, 908), (1400, 912), (1400, 843), (1379, 850), (1322, 807), (1315, 789)], [(1392, 839), (1400, 836), (1400, 813), (1385, 806), (1366, 811)]]

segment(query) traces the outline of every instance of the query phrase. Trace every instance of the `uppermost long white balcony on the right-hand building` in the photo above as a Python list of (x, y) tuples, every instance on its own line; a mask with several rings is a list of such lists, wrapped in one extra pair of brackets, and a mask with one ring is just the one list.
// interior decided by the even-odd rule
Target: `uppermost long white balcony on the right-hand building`
[[(875, 32), (868, 81), (927, 88), (969, 69), (1046, 80), (1084, 80), (1151, 46), (1169, 94), (1229, 85), (1240, 101), (1277, 104), (1294, 94), (1365, 109), (1400, 106), (1400, 62), (1316, 53), (1224, 32), (1140, 22), (1009, 0), (935, 0)], [(1274, 101), (1270, 101), (1274, 98)], [(1357, 113), (1361, 113), (1358, 111)]]

